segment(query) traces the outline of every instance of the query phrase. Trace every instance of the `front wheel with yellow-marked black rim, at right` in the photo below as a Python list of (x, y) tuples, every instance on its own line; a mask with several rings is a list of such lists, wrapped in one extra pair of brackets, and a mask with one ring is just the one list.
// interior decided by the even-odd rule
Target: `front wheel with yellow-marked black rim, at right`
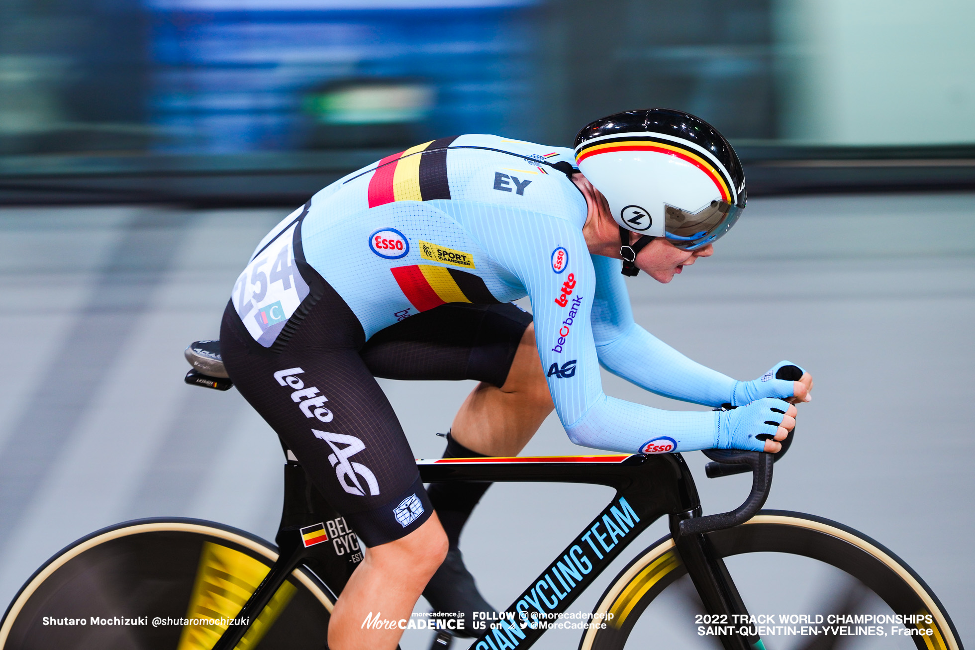
[[(623, 569), (594, 612), (580, 650), (722, 648), (757, 627), (769, 650), (963, 650), (937, 596), (897, 555), (836, 521), (761, 511), (709, 533), (752, 618), (710, 617), (670, 536)], [(604, 627), (599, 624), (604, 623)]]

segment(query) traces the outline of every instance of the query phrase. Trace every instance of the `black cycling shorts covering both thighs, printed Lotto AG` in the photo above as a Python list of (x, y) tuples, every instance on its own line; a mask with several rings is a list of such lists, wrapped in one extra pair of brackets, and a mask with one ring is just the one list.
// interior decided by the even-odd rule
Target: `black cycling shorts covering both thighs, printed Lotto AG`
[[(320, 278), (318, 280), (321, 280)], [(449, 303), (366, 341), (327, 283), (281, 345), (254, 342), (232, 304), (220, 354), (251, 402), (367, 546), (433, 513), (409, 442), (374, 377), (504, 384), (531, 315), (513, 304)]]

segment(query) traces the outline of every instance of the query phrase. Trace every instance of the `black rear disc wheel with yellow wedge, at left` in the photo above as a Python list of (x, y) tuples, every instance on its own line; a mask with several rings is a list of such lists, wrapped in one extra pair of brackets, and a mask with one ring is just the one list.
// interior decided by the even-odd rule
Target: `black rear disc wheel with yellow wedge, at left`
[[(209, 650), (277, 559), (213, 521), (139, 519), (48, 560), (0, 621), (0, 650)], [(238, 648), (322, 650), (333, 597), (295, 569)]]

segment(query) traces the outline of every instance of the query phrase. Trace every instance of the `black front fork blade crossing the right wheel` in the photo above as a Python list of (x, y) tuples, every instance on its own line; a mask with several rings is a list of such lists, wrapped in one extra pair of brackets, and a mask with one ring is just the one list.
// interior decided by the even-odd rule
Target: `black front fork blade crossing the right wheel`
[(747, 618), (741, 618), (748, 616), (745, 602), (738, 593), (724, 560), (715, 553), (707, 535), (679, 534), (678, 523), (689, 516), (690, 513), (672, 515), (671, 531), (687, 574), (704, 603), (704, 610), (716, 617), (711, 625), (733, 629), (730, 634), (719, 635), (724, 650), (764, 650), (760, 636), (739, 633), (741, 628), (748, 631), (754, 628), (747, 624)]

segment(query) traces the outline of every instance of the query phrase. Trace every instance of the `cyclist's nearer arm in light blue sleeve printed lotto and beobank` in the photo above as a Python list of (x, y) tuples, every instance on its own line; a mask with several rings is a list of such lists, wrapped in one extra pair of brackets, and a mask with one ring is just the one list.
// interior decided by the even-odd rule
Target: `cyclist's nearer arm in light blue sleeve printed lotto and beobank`
[[(767, 431), (741, 426), (748, 419), (739, 412), (743, 409), (665, 411), (604, 395), (590, 326), (596, 271), (582, 233), (564, 219), (537, 212), (485, 207), (479, 217), (464, 221), (482, 248), (521, 281), (531, 298), (539, 357), (570, 440), (634, 453), (715, 446), (761, 449), (763, 442), (750, 434), (774, 435), (774, 426), (762, 425)], [(561, 273), (552, 264), (558, 249), (567, 255)], [(776, 417), (781, 421), (774, 413), (761, 417), (760, 424)], [(658, 442), (647, 448), (652, 440)]]

